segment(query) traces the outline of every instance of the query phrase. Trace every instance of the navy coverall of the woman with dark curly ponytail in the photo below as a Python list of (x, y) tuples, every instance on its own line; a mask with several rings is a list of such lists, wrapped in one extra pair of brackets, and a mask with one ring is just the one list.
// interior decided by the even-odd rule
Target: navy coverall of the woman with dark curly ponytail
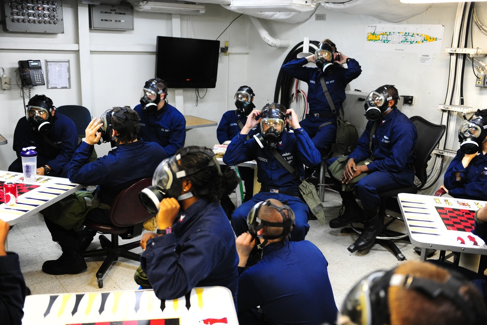
[(172, 232), (147, 242), (140, 257), (155, 295), (176, 299), (193, 287), (238, 287), (235, 235), (216, 200), (199, 199), (174, 220)]

